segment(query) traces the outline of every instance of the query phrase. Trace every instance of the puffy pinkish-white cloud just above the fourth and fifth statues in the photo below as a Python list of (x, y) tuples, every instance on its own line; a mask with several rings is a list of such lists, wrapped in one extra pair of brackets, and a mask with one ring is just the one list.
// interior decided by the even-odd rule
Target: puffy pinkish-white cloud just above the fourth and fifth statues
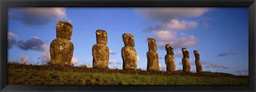
[[(180, 33), (180, 38), (173, 31), (155, 31), (156, 40), (159, 41), (158, 48), (165, 49), (165, 45), (170, 43), (173, 48), (187, 48), (196, 45), (198, 39), (194, 35)], [(162, 35), (162, 36), (161, 36)]]

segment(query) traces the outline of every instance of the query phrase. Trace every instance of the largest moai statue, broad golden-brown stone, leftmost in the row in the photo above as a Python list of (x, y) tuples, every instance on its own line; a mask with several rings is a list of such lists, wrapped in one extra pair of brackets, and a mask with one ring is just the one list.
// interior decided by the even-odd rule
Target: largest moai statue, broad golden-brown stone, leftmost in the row
[(58, 21), (56, 26), (57, 38), (51, 42), (51, 65), (70, 65), (74, 45), (70, 42), (73, 26), (65, 21)]

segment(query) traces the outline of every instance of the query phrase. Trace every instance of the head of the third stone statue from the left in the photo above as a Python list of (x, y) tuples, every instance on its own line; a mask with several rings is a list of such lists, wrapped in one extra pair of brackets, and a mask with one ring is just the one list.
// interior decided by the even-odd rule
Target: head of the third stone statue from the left
[(124, 45), (131, 46), (131, 47), (135, 46), (133, 35), (130, 34), (130, 33), (124, 33), (123, 34), (123, 42), (124, 42)]

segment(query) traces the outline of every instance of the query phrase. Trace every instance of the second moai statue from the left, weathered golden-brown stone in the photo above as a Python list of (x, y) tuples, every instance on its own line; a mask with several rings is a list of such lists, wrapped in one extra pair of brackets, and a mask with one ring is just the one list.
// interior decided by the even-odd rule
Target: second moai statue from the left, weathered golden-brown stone
[(108, 68), (109, 49), (107, 47), (107, 32), (104, 30), (97, 30), (96, 39), (97, 43), (92, 47), (92, 66), (94, 68)]

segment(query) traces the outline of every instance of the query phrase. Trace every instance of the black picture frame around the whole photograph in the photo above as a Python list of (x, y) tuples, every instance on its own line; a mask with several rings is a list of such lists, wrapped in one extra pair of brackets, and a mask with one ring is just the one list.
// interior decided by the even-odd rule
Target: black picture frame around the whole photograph
[[(7, 85), (8, 7), (248, 7), (249, 85)], [(255, 91), (255, 0), (1, 0), (0, 90), (5, 91)]]

